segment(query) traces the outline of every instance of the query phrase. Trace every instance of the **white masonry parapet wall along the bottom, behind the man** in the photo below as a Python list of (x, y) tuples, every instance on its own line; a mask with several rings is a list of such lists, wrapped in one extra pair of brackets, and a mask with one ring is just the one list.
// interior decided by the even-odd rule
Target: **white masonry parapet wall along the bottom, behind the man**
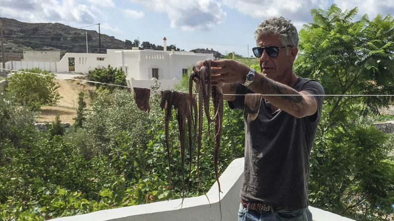
[[(230, 163), (219, 178), (222, 221), (236, 221), (239, 208), (239, 190), (242, 184), (244, 158)], [(209, 199), (209, 201), (208, 201)], [(57, 218), (53, 221), (219, 221), (219, 190), (215, 182), (207, 195), (102, 210), (84, 215)], [(210, 203), (209, 203), (210, 202)], [(314, 221), (352, 221), (348, 218), (309, 207)]]

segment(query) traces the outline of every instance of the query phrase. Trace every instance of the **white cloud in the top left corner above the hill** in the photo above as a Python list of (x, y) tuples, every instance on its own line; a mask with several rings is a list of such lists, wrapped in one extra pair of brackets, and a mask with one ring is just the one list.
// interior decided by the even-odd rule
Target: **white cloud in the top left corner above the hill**
[(62, 22), (91, 24), (95, 13), (79, 0), (0, 0), (1, 17), (24, 22)]

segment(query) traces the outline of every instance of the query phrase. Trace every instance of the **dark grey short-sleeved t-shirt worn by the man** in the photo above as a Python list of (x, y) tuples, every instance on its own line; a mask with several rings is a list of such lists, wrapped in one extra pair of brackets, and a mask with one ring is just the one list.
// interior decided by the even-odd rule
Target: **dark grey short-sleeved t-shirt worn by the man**
[[(324, 94), (316, 81), (298, 78), (293, 87), (311, 94)], [(236, 84), (237, 94), (253, 93)], [(273, 112), (262, 99), (259, 115), (248, 123), (245, 117), (245, 169), (240, 196), (249, 202), (302, 209), (308, 206), (309, 154), (322, 111), (323, 96), (314, 96), (317, 112), (296, 118), (282, 111)], [(244, 96), (228, 101), (231, 109), (244, 109)]]

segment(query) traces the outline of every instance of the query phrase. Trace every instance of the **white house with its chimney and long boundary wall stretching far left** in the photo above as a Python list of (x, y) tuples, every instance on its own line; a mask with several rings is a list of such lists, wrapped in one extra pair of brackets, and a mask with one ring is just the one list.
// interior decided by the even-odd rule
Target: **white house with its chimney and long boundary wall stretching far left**
[(200, 60), (214, 59), (212, 53), (187, 51), (164, 51), (130, 49), (107, 49), (106, 54), (65, 53), (60, 58), (58, 51), (24, 51), (23, 61), (9, 61), (6, 68), (11, 70), (40, 68), (51, 72), (88, 73), (97, 67), (111, 65), (126, 74), (128, 87), (150, 88), (159, 81), (162, 89), (172, 88), (187, 69)]

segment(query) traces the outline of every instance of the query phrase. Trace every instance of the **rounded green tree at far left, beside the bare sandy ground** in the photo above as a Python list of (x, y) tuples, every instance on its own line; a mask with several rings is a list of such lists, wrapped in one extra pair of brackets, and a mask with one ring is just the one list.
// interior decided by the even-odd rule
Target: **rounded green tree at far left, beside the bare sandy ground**
[(41, 71), (39, 68), (22, 69), (13, 72), (8, 79), (6, 91), (15, 94), (16, 101), (22, 105), (39, 110), (41, 105), (54, 105), (60, 98), (57, 92), (55, 75), (48, 71)]

